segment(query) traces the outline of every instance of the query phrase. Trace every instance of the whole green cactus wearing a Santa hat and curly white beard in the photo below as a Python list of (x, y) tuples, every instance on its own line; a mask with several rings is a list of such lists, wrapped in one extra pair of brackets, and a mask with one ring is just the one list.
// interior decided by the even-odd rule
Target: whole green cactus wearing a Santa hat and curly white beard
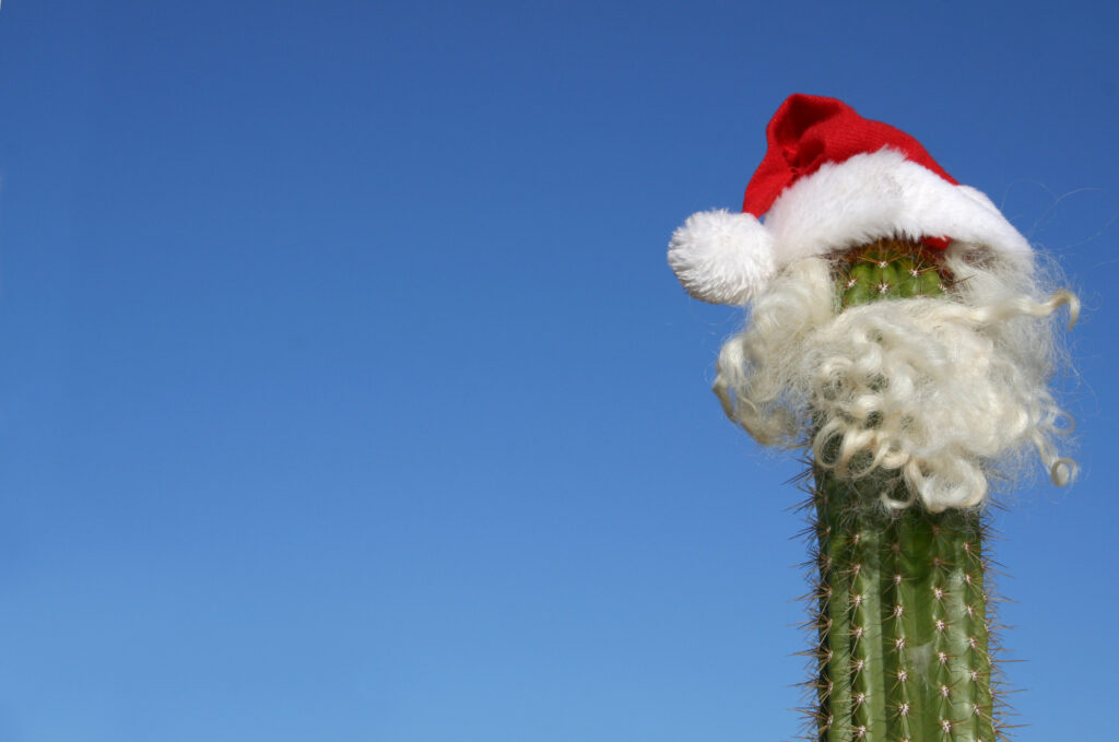
[(792, 95), (767, 138), (742, 213), (693, 215), (668, 261), (693, 297), (750, 307), (720, 353), (727, 416), (806, 452), (806, 736), (994, 742), (987, 511), (1031, 460), (1075, 475), (1049, 384), (1076, 299), (909, 134)]

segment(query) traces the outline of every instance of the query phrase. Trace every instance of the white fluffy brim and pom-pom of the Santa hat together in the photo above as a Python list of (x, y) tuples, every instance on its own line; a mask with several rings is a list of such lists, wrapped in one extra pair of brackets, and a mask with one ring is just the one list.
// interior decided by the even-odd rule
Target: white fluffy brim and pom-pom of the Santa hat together
[(725, 209), (692, 215), (673, 235), (668, 262), (696, 299), (743, 304), (793, 261), (888, 236), (982, 245), (1026, 271), (1033, 262), (1029, 243), (984, 194), (890, 149), (800, 178), (764, 224)]

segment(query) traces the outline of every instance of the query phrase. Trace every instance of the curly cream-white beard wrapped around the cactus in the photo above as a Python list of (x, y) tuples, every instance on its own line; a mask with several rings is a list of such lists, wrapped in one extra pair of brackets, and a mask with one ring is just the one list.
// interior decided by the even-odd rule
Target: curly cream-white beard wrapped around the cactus
[[(1071, 419), (1049, 389), (1054, 312), (1033, 272), (953, 243), (941, 299), (876, 301), (839, 311), (829, 263), (788, 266), (718, 358), (727, 416), (765, 445), (808, 445), (834, 476), (901, 476), (932, 511), (981, 505), (993, 477), (1015, 478), (1035, 450), (1057, 486), (1075, 476), (1054, 441)], [(880, 477), (881, 479), (881, 477)]]

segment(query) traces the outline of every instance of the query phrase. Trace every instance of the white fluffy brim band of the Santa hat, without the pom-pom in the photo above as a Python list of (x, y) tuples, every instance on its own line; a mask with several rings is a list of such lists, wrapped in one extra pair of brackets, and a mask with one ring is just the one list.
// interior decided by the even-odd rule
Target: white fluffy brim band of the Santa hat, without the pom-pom
[(829, 163), (787, 188), (765, 215), (778, 265), (887, 236), (949, 237), (1033, 263), (1029, 243), (989, 198), (883, 149)]

